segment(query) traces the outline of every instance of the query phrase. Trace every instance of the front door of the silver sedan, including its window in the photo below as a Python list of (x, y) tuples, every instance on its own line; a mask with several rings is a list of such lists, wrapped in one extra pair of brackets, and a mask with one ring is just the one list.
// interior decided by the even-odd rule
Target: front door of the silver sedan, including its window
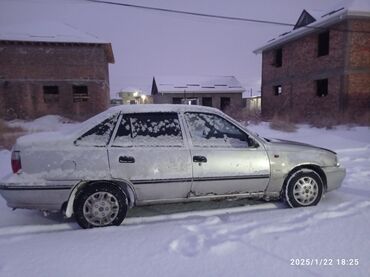
[(265, 149), (225, 118), (185, 113), (191, 137), (191, 197), (263, 192), (270, 176)]

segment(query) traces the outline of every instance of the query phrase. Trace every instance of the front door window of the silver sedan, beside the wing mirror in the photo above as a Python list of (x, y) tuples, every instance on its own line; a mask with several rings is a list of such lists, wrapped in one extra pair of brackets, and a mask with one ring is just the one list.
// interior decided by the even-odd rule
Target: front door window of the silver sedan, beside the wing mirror
[(207, 113), (185, 113), (193, 145), (196, 147), (245, 148), (248, 135), (226, 119)]

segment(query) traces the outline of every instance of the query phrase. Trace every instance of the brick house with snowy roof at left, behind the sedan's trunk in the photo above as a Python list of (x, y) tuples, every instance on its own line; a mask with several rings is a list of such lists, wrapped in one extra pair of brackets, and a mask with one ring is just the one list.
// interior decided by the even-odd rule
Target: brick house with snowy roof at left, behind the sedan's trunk
[(109, 107), (110, 43), (70, 26), (0, 28), (0, 118), (85, 119)]

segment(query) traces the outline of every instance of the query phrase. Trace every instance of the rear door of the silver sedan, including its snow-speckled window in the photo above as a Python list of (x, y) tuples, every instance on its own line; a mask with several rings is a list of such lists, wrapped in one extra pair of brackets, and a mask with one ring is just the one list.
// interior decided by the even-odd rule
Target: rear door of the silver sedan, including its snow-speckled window
[(138, 204), (187, 197), (192, 162), (177, 113), (123, 115), (108, 151), (112, 177), (133, 183)]

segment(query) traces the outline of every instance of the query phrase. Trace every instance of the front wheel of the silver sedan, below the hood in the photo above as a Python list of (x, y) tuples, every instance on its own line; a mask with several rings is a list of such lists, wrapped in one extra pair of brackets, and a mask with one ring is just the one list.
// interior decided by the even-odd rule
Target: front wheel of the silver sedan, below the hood
[(289, 176), (284, 190), (285, 201), (292, 208), (315, 206), (322, 194), (322, 179), (313, 170), (302, 170)]

